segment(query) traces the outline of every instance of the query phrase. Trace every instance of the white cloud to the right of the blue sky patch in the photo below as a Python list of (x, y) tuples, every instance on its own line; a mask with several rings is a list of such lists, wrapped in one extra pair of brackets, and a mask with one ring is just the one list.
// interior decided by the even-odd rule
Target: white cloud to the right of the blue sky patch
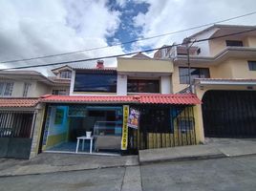
[[(185, 0), (141, 0), (149, 3), (149, 11), (139, 13), (134, 18), (134, 24), (142, 27), (143, 37), (154, 36), (162, 33), (177, 32), (183, 29), (211, 23), (225, 18), (242, 15), (255, 11), (254, 0), (216, 0), (216, 1), (185, 1)], [(225, 24), (255, 25), (256, 15), (226, 22)], [(194, 32), (181, 32), (139, 41), (134, 47), (151, 46), (161, 47), (164, 44), (180, 43), (182, 39)]]

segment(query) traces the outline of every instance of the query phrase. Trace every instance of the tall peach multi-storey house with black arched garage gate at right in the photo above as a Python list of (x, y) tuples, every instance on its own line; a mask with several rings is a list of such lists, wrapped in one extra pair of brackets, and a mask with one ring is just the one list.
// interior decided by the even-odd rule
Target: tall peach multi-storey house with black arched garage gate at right
[[(230, 33), (239, 34), (227, 35)], [(204, 136), (255, 138), (256, 27), (214, 25), (186, 39), (192, 41), (188, 45), (191, 83), (193, 92), (203, 101), (198, 113), (203, 118)], [(186, 46), (173, 47), (165, 56), (155, 53), (155, 57), (173, 60), (173, 92), (187, 92)]]

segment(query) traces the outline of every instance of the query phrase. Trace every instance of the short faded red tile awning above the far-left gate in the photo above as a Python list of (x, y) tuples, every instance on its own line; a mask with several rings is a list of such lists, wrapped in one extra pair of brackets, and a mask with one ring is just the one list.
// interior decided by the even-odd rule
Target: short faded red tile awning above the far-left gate
[(0, 108), (35, 107), (38, 98), (0, 98)]

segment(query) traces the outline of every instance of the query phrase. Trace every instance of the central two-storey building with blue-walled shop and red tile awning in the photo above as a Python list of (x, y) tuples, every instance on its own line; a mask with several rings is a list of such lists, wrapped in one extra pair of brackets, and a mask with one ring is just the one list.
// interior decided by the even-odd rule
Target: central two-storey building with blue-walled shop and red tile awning
[[(191, 94), (173, 95), (172, 74), (172, 61), (142, 53), (117, 58), (117, 68), (104, 67), (99, 60), (96, 68), (73, 69), (71, 96), (41, 99), (47, 107), (42, 150), (75, 152), (76, 138), (87, 131), (95, 136), (96, 152), (200, 142), (194, 117), (200, 100)], [(127, 129), (128, 110), (139, 111), (139, 129)]]

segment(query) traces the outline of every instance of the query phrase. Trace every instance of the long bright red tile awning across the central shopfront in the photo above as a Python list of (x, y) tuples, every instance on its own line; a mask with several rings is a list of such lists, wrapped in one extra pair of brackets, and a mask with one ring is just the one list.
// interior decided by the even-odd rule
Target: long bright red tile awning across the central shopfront
[(41, 102), (58, 103), (151, 103), (151, 104), (200, 104), (192, 94), (138, 95), (138, 96), (42, 96)]

